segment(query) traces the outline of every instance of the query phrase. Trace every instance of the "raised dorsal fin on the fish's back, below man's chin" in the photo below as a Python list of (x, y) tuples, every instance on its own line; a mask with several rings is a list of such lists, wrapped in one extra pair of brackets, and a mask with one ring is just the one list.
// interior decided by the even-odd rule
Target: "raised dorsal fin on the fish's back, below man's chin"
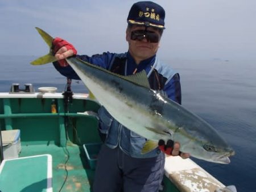
[(130, 76), (123, 76), (127, 81), (131, 81), (134, 84), (141, 85), (150, 89), (150, 84), (147, 79), (147, 73), (145, 70), (142, 70), (139, 73), (132, 74)]

